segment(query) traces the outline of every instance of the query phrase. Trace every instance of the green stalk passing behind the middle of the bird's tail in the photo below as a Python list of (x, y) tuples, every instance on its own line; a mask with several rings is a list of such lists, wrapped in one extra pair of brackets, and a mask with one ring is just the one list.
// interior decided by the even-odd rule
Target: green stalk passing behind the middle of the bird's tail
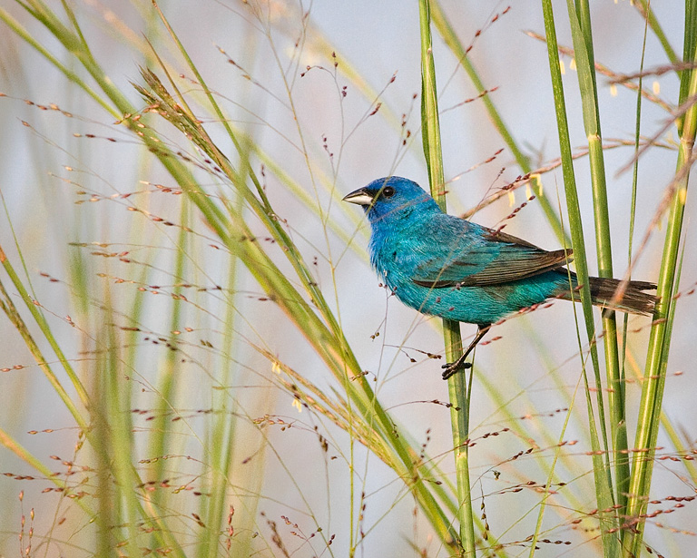
[[(588, 138), (588, 156), (591, 165), (591, 186), (593, 190), (593, 214), (595, 226), (595, 243), (597, 248), (598, 275), (603, 278), (614, 277), (613, 252), (610, 240), (610, 215), (607, 202), (607, 186), (605, 182), (605, 164), (603, 152), (603, 137), (600, 126), (598, 108), (598, 90), (595, 82), (595, 60), (593, 34), (591, 26), (590, 7), (587, 0), (567, 0), (569, 21), (571, 22), (576, 67), (578, 69), (578, 84), (581, 90), (581, 101), (584, 112), (584, 129)], [(608, 482), (612, 489), (610, 475), (610, 455), (614, 459), (615, 481), (623, 488), (617, 489), (614, 500), (621, 507), (617, 514), (622, 515), (626, 506), (626, 492), (629, 483), (629, 461), (624, 458), (628, 448), (625, 428), (625, 409), (622, 397), (622, 377), (620, 373), (619, 348), (617, 346), (617, 320), (614, 312), (603, 314), (605, 372), (607, 375), (607, 399), (610, 415), (610, 431), (612, 446), (608, 445), (605, 433), (604, 398), (602, 389), (596, 391), (598, 416), (603, 433), (605, 449), (605, 466), (607, 467)], [(602, 386), (599, 370), (595, 369), (596, 387)], [(612, 451), (609, 451), (612, 449)]]

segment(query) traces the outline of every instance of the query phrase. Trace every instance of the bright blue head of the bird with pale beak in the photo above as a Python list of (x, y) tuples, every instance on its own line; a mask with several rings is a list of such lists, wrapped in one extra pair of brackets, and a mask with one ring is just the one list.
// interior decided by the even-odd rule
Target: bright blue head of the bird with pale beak
[(399, 176), (372, 181), (349, 193), (344, 201), (362, 206), (371, 224), (386, 219), (405, 219), (415, 211), (417, 214), (440, 211), (436, 201), (415, 181)]

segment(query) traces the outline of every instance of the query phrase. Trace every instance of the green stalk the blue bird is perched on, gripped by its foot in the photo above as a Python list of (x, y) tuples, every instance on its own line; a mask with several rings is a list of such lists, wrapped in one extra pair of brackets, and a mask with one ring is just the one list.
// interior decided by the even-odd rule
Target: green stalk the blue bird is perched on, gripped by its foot
[[(436, 85), (436, 64), (431, 41), (431, 16), (429, 0), (418, 3), (421, 29), (421, 121), (426, 156), (428, 181), (433, 197), (442, 210), (446, 210), (444, 192), (445, 173), (440, 143), (440, 123)], [(455, 362), (462, 355), (462, 337), (459, 322), (443, 319), (443, 335), (447, 362)], [(463, 555), (475, 556), (475, 526), (472, 513), (472, 494), (469, 481), (469, 399), (471, 392), (466, 384), (466, 374), (460, 372), (447, 382), (450, 397), (450, 418), (453, 427), (455, 466), (457, 480), (457, 516), (460, 523), (460, 544)], [(471, 384), (470, 384), (471, 387)]]

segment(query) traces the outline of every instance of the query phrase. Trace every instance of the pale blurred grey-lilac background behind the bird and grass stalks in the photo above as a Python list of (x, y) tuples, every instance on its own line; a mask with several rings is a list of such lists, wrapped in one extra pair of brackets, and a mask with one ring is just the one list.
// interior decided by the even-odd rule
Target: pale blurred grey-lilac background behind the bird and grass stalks
[[(206, 473), (201, 464), (206, 463), (211, 415), (219, 411), (223, 394), (236, 425), (226, 497), (235, 508), (234, 536), (246, 537), (249, 553), (449, 555), (415, 512), (403, 480), (327, 416), (299, 405), (292, 391), (274, 379), (279, 365), (268, 355), (322, 392), (342, 398), (343, 387), (299, 330), (246, 269), (235, 268), (234, 258), (220, 250), (201, 214), (182, 203), (178, 186), (121, 119), (19, 33), (43, 45), (65, 65), (66, 73), (93, 87), (91, 76), (64, 45), (19, 3), (0, 4), (5, 14), (0, 33), (0, 92), (5, 94), (0, 98), (0, 245), (30, 286), (64, 356), (90, 389), (101, 381), (103, 343), (114, 336), (109, 343), (119, 347), (127, 366), (113, 381), (132, 394), (133, 440), (138, 448), (133, 463), (145, 471), (146, 460), (159, 460), (161, 465), (166, 461), (161, 471), (166, 478), (147, 473), (143, 478), (156, 486), (153, 490), (169, 494), (167, 505), (172, 517), (179, 517), (184, 548), (194, 548), (194, 515), (205, 507), (201, 498), (206, 497)], [(144, 86), (139, 66), (149, 67), (168, 84), (161, 65), (165, 64), (180, 91), (201, 100), (200, 80), (151, 3), (69, 4), (94, 60), (138, 110), (147, 105), (131, 84)], [(61, 3), (47, 5), (71, 25)], [(486, 96), (496, 104), (531, 167), (553, 166), (559, 148), (546, 45), (531, 36), (545, 33), (540, 5), (448, 0), (441, 5), (462, 44), (471, 46), (467, 57), (488, 90)], [(564, 3), (554, 6), (564, 15)], [(423, 445), (451, 476), (447, 384), (440, 379), (443, 359), (427, 357), (443, 354), (439, 320), (419, 316), (387, 296), (369, 268), (368, 225), (362, 212), (339, 201), (389, 174), (427, 187), (420, 136), (417, 3), (203, 0), (161, 2), (159, 7), (226, 118), (253, 143), (250, 165), (313, 270), (379, 401), (400, 433)], [(653, 3), (652, 8), (672, 48), (682, 53), (681, 3)], [(22, 30), (13, 32), (10, 19)], [(597, 2), (592, 19), (596, 62), (616, 74), (637, 73), (643, 54), (641, 12), (629, 1)], [(557, 25), (559, 44), (570, 46), (565, 17), (558, 17)], [(448, 208), (459, 214), (477, 208), (523, 172), (456, 56), (438, 34), (434, 42)], [(652, 33), (644, 55), (645, 69), (668, 64)], [(560, 61), (572, 144), (581, 152), (587, 141), (573, 59), (561, 56)], [(605, 162), (614, 273), (622, 277), (627, 269), (632, 171), (618, 171), (633, 158), (636, 93), (608, 79), (599, 75), (598, 87), (604, 141), (613, 146), (605, 152)], [(678, 97), (679, 83), (672, 71), (649, 75), (643, 85), (664, 103), (675, 103)], [(237, 163), (220, 118), (198, 114), (212, 140)], [(661, 103), (643, 100), (642, 136), (653, 136), (668, 120)], [(164, 123), (158, 127), (162, 141), (174, 152), (193, 158), (195, 149), (181, 132)], [(661, 259), (663, 229), (660, 221), (652, 225), (652, 220), (674, 174), (673, 128), (660, 140), (662, 146), (648, 150), (639, 164), (634, 257), (644, 235), (651, 234), (633, 266), (634, 279), (655, 281)], [(211, 195), (233, 205), (242, 203), (233, 189), (215, 180), (205, 163), (199, 165), (197, 176), (211, 187)], [(575, 170), (594, 273), (587, 159), (577, 159)], [(557, 213), (563, 208), (565, 221), (561, 171), (545, 171), (541, 181), (546, 199)], [(506, 219), (534, 193), (529, 185), (506, 193), (477, 210), (472, 219), (488, 227), (506, 223), (506, 232), (547, 250), (557, 249), (562, 240), (536, 200), (528, 201), (514, 219)], [(685, 293), (697, 279), (697, 263), (689, 249), (697, 232), (693, 214), (688, 199), (688, 248), (681, 280)], [(257, 220), (250, 217), (249, 222), (259, 234), (256, 241), (290, 274), (282, 250), (266, 238)], [(183, 267), (178, 267), (178, 250), (185, 254)], [(9, 298), (22, 307), (16, 289), (5, 277), (3, 281)], [(185, 304), (172, 298), (177, 289)], [(695, 297), (686, 294), (680, 299), (664, 394), (665, 415), (692, 448), (697, 421), (696, 309)], [(20, 313), (28, 317), (26, 308)], [(91, 487), (99, 472), (91, 465), (90, 451), (82, 449), (74, 417), (17, 329), (7, 318), (0, 319), (0, 328), (3, 431), (51, 471), (83, 482), (85, 493), (67, 498), (56, 492), (45, 475), (37, 475), (11, 449), (4, 435), (0, 555), (25, 552), (30, 524), (33, 543), (26, 555), (100, 555), (89, 514), (81, 507), (98, 508)], [(627, 353), (627, 377), (634, 378), (643, 372), (649, 319), (631, 317), (629, 328), (637, 330), (628, 338)], [(35, 325), (30, 329), (37, 330)], [(462, 330), (466, 341), (475, 333), (474, 326), (464, 325)], [(172, 335), (181, 343), (179, 351), (168, 348)], [(595, 507), (580, 384), (587, 343), (582, 336), (579, 352), (573, 305), (555, 302), (510, 319), (490, 337), (497, 339), (476, 351), (471, 437), (478, 442), (470, 451), (473, 493), (486, 505), (491, 534), (506, 545), (509, 555), (529, 552), (524, 541), (535, 529), (536, 489), (546, 481), (545, 467), (555, 458), (556, 445), (573, 440), (577, 443), (564, 448), (555, 471), (555, 483), (569, 485), (568, 494), (548, 500), (543, 534), (550, 543), (540, 543), (539, 555), (601, 555), (595, 527), (570, 521)], [(231, 352), (221, 349), (227, 342)], [(47, 361), (57, 365), (59, 357), (45, 341), (42, 348)], [(166, 405), (160, 397), (165, 370), (174, 370)], [(224, 380), (222, 370), (229, 374)], [(629, 381), (630, 417), (636, 416), (640, 393), (639, 383)], [(630, 444), (633, 424), (630, 418)], [(148, 442), (159, 428), (167, 428), (170, 436), (166, 454)], [(492, 432), (501, 434), (479, 439)], [(667, 436), (659, 445), (666, 455), (672, 451)], [(510, 460), (530, 447), (535, 452)], [(681, 463), (656, 461), (656, 499), (693, 492)], [(697, 531), (692, 507), (685, 504), (663, 521), (655, 520), (659, 524), (648, 524), (647, 542), (657, 553), (691, 555)], [(320, 534), (325, 540), (335, 538), (328, 546), (318, 543)], [(221, 555), (237, 555), (234, 549), (226, 551), (222, 545)], [(198, 554), (191, 550), (191, 555)]]

